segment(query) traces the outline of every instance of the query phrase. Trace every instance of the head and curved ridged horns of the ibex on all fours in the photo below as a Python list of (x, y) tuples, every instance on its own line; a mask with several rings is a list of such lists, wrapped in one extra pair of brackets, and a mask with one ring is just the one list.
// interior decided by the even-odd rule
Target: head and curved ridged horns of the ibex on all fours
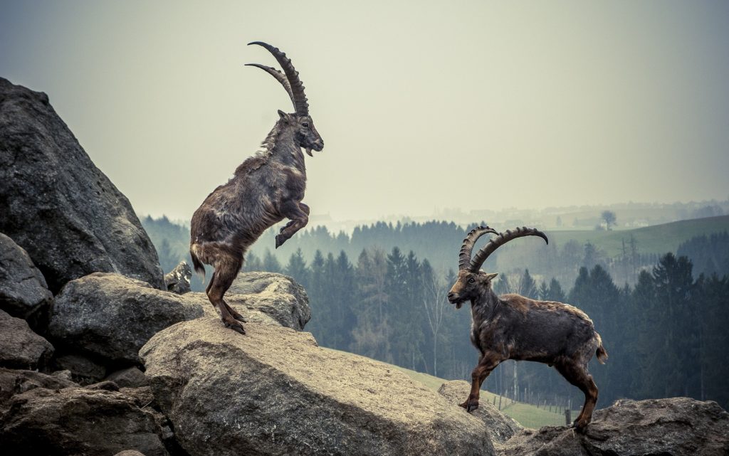
[[(491, 233), (498, 235), (493, 239), (489, 240), (486, 245), (483, 246), (477, 253), (476, 256), (471, 258), (471, 252), (473, 246), (479, 237)], [(549, 243), (547, 235), (543, 232), (534, 228), (517, 228), (514, 231), (507, 229), (504, 233), (499, 233), (496, 230), (489, 227), (476, 227), (471, 230), (463, 240), (461, 245), (461, 252), (459, 253), (459, 272), (456, 278), (456, 283), (453, 283), (451, 291), (448, 292), (448, 301), (452, 304), (456, 304), (456, 309), (460, 309), (461, 305), (476, 296), (484, 294), (491, 288), (491, 280), (494, 280), (498, 274), (489, 274), (480, 270), (483, 262), (486, 261), (491, 253), (509, 242), (512, 239), (523, 236), (539, 236)]]

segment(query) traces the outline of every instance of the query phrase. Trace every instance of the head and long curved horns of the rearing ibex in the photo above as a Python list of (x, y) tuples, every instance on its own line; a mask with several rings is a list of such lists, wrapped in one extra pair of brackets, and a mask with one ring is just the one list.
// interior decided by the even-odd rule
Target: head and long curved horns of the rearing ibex
[(294, 140), (297, 146), (306, 149), (306, 153), (310, 157), (313, 157), (311, 150), (316, 152), (324, 149), (324, 140), (321, 139), (319, 132), (316, 131), (314, 123), (309, 116), (309, 104), (304, 94), (304, 84), (299, 79), (299, 72), (296, 71), (294, 65), (291, 63), (291, 59), (286, 57), (284, 52), (278, 50), (278, 47), (273, 47), (270, 44), (264, 42), (252, 42), (250, 44), (257, 44), (265, 47), (268, 52), (273, 54), (278, 64), (284, 69), (284, 73), (278, 71), (272, 66), (260, 65), (258, 63), (246, 63), (249, 66), (257, 66), (266, 73), (275, 77), (278, 82), (286, 89), (286, 93), (289, 94), (292, 103), (294, 103), (295, 112), (292, 114), (286, 114), (284, 111), (278, 110), (278, 115), (281, 116), (281, 122), (291, 127), (294, 130)]

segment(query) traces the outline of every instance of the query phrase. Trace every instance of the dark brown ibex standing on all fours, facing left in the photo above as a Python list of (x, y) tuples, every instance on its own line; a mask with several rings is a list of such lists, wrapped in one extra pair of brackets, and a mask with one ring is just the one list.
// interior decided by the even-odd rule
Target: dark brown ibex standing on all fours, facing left
[[(497, 236), (471, 259), (476, 240), (486, 233)], [(477, 227), (461, 246), (458, 278), (448, 293), (448, 301), (456, 304), (456, 309), (465, 301), (471, 302), (471, 342), (480, 351), (471, 376), (471, 393), (461, 407), (468, 412), (478, 407), (483, 380), (502, 361), (537, 361), (555, 366), (568, 382), (585, 393), (585, 405), (574, 420), (574, 427), (582, 431), (592, 419), (597, 402), (597, 386), (588, 374), (588, 361), (593, 354), (601, 363), (607, 359), (593, 322), (585, 312), (569, 304), (535, 301), (518, 294), (496, 296), (491, 289), (496, 274), (480, 270), (496, 248), (523, 236), (539, 236), (549, 242), (543, 232), (533, 228), (499, 234), (489, 227)]]

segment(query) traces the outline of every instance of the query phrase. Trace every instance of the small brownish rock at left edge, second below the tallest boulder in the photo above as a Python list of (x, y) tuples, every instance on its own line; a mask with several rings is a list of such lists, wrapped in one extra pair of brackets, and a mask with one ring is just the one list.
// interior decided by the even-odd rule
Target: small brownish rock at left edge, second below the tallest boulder
[(31, 331), (28, 323), (0, 310), (0, 366), (39, 369), (53, 355), (53, 346)]

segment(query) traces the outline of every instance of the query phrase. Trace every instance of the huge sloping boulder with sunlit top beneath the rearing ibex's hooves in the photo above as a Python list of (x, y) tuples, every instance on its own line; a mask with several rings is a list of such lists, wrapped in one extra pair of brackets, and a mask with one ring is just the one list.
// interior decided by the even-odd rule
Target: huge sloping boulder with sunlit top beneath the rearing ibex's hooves
[(483, 422), (397, 369), (311, 334), (214, 318), (142, 348), (157, 404), (190, 456), (492, 455)]

